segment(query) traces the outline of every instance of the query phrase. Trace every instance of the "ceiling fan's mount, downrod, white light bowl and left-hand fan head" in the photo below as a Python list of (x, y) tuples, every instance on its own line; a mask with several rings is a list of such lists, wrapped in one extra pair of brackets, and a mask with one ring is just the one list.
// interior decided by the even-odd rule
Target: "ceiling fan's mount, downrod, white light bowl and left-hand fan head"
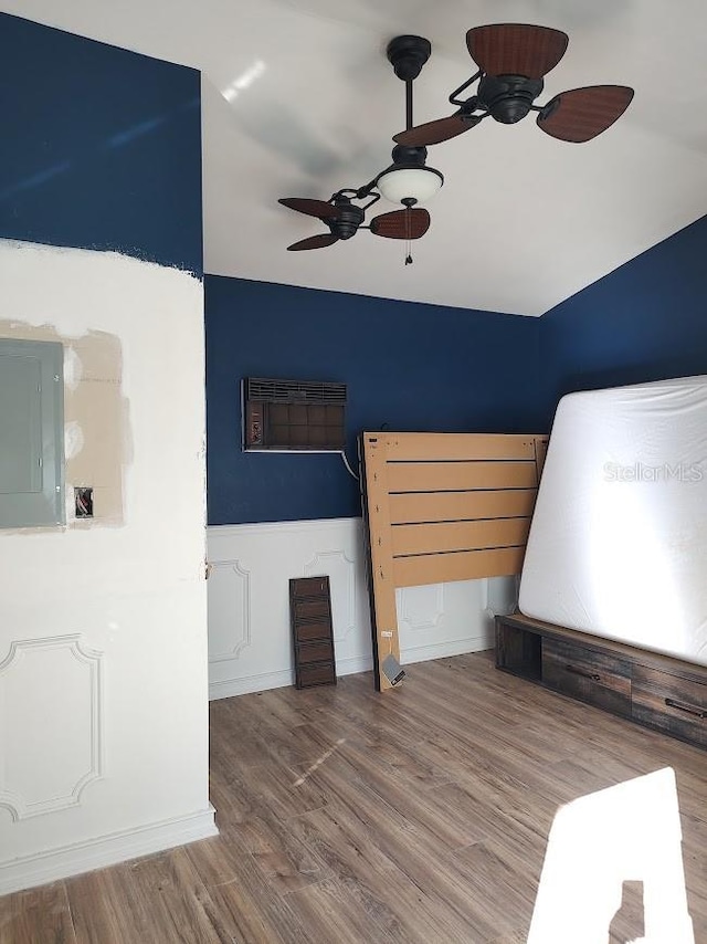
[[(405, 117), (409, 129), (412, 128), (412, 83), (430, 57), (431, 51), (429, 40), (411, 35), (395, 36), (386, 50), (395, 75), (405, 83)], [(294, 252), (323, 249), (340, 240), (351, 239), (360, 229), (386, 239), (420, 239), (430, 228), (430, 213), (416, 204), (434, 196), (444, 182), (439, 170), (425, 166), (426, 156), (428, 149), (424, 145), (398, 144), (392, 151), (392, 164), (362, 187), (337, 190), (328, 200), (283, 197), (278, 200), (279, 203), (299, 213), (318, 218), (329, 230), (299, 240), (287, 249)], [(401, 203), (404, 209), (381, 213), (373, 217), (369, 225), (363, 225), (366, 211), (381, 197), (393, 203)], [(362, 202), (362, 206), (354, 202), (355, 200)], [(412, 258), (408, 251), (405, 264), (410, 262)]]

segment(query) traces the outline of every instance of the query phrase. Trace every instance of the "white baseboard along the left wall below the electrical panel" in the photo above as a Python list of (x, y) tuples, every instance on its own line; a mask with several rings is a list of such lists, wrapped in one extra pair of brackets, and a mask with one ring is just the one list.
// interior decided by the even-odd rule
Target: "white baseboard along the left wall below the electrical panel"
[(218, 836), (214, 808), (0, 863), (0, 895)]

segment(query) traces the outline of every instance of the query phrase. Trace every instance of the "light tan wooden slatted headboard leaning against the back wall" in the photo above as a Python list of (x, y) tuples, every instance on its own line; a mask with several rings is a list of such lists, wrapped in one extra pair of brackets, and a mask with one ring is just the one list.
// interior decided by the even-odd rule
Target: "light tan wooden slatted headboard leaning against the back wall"
[(395, 589), (519, 574), (547, 436), (365, 432), (373, 672), (400, 659)]

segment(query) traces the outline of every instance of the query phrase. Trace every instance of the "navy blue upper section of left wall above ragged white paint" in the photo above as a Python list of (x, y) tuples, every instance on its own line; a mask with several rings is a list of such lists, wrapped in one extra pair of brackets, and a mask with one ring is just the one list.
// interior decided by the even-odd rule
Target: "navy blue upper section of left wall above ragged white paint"
[(200, 74), (0, 13), (0, 237), (201, 275)]

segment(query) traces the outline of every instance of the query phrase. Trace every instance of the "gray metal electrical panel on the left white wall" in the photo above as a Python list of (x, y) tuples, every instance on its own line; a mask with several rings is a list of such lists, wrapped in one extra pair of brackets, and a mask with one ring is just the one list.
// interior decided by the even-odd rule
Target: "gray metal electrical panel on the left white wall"
[(63, 524), (64, 352), (0, 338), (0, 527)]

